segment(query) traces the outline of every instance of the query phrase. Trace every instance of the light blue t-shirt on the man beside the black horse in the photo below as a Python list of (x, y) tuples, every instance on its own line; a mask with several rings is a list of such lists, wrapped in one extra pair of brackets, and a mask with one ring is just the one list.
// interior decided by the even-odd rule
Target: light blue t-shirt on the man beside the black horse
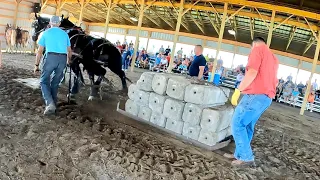
[(66, 32), (58, 27), (52, 27), (43, 32), (38, 42), (39, 46), (46, 48), (46, 53), (65, 53), (67, 48), (70, 47), (70, 39)]

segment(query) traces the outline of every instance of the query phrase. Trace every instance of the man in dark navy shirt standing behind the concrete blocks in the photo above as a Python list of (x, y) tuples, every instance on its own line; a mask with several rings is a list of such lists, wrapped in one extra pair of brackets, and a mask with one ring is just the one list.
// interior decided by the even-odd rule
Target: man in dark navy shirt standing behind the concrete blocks
[(198, 80), (202, 79), (204, 68), (206, 66), (206, 59), (202, 55), (203, 47), (201, 45), (196, 45), (194, 48), (195, 58), (189, 68), (190, 76), (197, 76)]

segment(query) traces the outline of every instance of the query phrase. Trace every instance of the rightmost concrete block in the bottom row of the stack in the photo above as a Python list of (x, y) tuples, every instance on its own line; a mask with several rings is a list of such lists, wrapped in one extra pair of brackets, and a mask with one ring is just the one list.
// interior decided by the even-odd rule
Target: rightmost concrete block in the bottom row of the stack
[(219, 141), (226, 138), (226, 135), (227, 135), (226, 129), (220, 132), (212, 132), (206, 129), (201, 129), (198, 141), (208, 146), (213, 146)]

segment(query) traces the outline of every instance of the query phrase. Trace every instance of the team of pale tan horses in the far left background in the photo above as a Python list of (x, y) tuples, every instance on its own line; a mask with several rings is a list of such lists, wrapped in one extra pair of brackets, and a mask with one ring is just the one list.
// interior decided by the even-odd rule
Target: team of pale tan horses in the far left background
[(20, 50), (20, 52), (26, 52), (29, 32), (20, 27), (14, 28), (7, 24), (5, 28), (5, 39), (7, 44), (6, 51), (8, 53), (18, 52), (18, 50)]

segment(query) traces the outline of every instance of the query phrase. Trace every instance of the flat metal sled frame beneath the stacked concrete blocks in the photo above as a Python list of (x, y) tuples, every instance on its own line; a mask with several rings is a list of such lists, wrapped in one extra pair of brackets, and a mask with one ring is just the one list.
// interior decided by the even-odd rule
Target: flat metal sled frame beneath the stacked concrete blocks
[(144, 123), (144, 124), (148, 124), (148, 125), (150, 125), (150, 126), (152, 126), (152, 127), (155, 127), (155, 128), (157, 128), (157, 129), (160, 129), (160, 130), (162, 130), (162, 131), (164, 131), (164, 132), (166, 132), (166, 133), (169, 133), (169, 134), (171, 134), (171, 135), (174, 135), (177, 139), (182, 140), (184, 143), (192, 144), (192, 145), (194, 145), (194, 146), (197, 146), (197, 147), (200, 147), (200, 148), (209, 150), (209, 151), (215, 151), (215, 150), (224, 148), (224, 147), (228, 146), (229, 143), (231, 142), (230, 139), (228, 139), (228, 140), (222, 140), (222, 141), (220, 141), (219, 143), (217, 143), (217, 144), (215, 144), (215, 145), (213, 145), (213, 146), (208, 146), (208, 145), (203, 144), (203, 143), (201, 143), (201, 142), (199, 142), (199, 141), (190, 139), (190, 138), (188, 138), (188, 137), (182, 136), (181, 134), (177, 134), (177, 133), (175, 133), (175, 132), (173, 132), (173, 131), (170, 131), (170, 130), (165, 129), (165, 128), (160, 127), (160, 126), (157, 126), (157, 125), (155, 125), (155, 124), (153, 124), (153, 123), (151, 123), (151, 122), (149, 122), (149, 121), (145, 121), (145, 120), (143, 120), (143, 119), (141, 119), (141, 118), (139, 118), (139, 117), (137, 117), (137, 116), (134, 116), (134, 115), (132, 115), (132, 114), (130, 114), (130, 113), (128, 113), (128, 112), (120, 109), (120, 101), (119, 101), (118, 104), (117, 104), (117, 111), (118, 111), (120, 114), (122, 114), (122, 115), (124, 115), (124, 116), (126, 116), (126, 117), (129, 117), (129, 118), (131, 118), (131, 119), (134, 119), (134, 120), (139, 121), (139, 122)]

